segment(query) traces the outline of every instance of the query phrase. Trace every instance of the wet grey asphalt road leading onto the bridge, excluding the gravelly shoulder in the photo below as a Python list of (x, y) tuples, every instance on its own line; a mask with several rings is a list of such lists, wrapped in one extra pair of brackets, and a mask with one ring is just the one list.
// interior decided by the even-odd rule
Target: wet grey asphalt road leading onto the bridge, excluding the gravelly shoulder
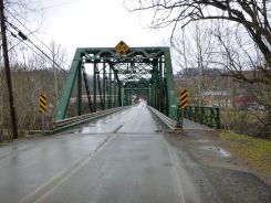
[(0, 148), (0, 202), (197, 202), (144, 105)]

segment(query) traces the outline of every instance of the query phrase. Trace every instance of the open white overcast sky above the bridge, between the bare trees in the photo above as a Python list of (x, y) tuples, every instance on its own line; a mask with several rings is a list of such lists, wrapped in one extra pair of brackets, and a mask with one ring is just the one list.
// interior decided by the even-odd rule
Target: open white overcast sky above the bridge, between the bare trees
[(150, 15), (129, 13), (123, 0), (32, 1), (32, 7), (38, 10), (28, 14), (28, 19), (31, 19), (29, 28), (33, 30), (42, 21), (40, 32), (35, 35), (45, 43), (51, 39), (61, 43), (70, 58), (76, 47), (112, 47), (121, 40), (129, 46), (167, 43), (166, 30), (149, 30)]

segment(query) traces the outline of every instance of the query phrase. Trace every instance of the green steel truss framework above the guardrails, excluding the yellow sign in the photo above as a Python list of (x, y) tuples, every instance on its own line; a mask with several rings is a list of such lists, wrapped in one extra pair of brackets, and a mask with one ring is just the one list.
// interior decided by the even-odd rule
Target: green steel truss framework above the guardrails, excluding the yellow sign
[[(97, 110), (97, 100), (102, 101), (102, 99), (104, 104), (100, 107), (101, 109), (113, 107), (112, 98), (115, 98), (115, 106), (128, 104), (131, 101), (131, 90), (137, 89), (138, 93), (148, 92), (148, 94), (145, 93), (144, 95), (148, 96), (149, 105), (177, 120), (177, 99), (171, 57), (169, 47), (166, 46), (131, 47), (131, 51), (125, 55), (117, 54), (114, 47), (77, 49), (58, 106), (56, 120), (65, 118), (76, 76), (79, 82), (77, 114), (81, 114), (82, 64), (92, 64), (92, 68), (94, 68), (92, 72), (94, 73), (92, 86), (94, 111)], [(98, 73), (103, 73), (102, 83), (100, 83)], [(114, 74), (114, 77), (111, 74)], [(101, 84), (103, 85), (101, 86)], [(112, 87), (112, 84), (114, 84), (114, 87)], [(97, 87), (102, 95), (97, 95)]]

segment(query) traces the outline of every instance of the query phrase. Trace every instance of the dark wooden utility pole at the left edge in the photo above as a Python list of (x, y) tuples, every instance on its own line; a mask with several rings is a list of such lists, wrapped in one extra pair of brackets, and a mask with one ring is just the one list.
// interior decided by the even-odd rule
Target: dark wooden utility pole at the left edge
[(13, 139), (18, 138), (18, 129), (17, 129), (17, 119), (15, 119), (15, 108), (14, 108), (14, 99), (12, 94), (12, 82), (10, 76), (10, 62), (8, 54), (8, 43), (6, 35), (6, 24), (4, 24), (4, 13), (3, 13), (3, 0), (0, 0), (0, 18), (1, 18), (1, 38), (2, 38), (2, 47), (3, 47), (3, 65), (6, 70), (7, 77), (7, 86), (9, 93), (9, 103), (10, 103), (10, 119), (12, 126)]

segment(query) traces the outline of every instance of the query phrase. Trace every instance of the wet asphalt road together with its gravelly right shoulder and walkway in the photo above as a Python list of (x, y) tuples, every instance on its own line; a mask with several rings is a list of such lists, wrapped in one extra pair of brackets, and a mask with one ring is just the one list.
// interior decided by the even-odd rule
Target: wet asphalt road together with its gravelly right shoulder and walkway
[[(185, 120), (159, 131), (144, 104), (72, 131), (0, 147), (0, 203), (269, 203), (271, 188)], [(197, 128), (197, 129), (196, 129)]]

